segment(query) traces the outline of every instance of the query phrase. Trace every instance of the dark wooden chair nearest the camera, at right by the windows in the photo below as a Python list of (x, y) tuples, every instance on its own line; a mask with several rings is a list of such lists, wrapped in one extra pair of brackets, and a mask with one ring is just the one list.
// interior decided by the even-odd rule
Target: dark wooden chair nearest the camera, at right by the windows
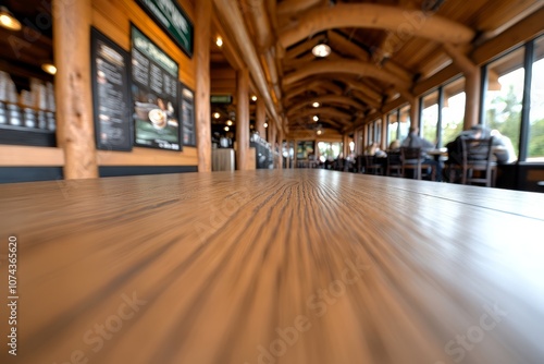
[(461, 184), (495, 185), (497, 163), (493, 160), (493, 137), (462, 138)]

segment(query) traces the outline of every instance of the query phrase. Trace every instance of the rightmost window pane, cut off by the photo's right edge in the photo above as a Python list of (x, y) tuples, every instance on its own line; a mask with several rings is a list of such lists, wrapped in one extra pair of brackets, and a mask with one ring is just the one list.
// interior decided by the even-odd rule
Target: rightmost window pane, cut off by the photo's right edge
[(544, 36), (534, 43), (528, 161), (544, 161)]

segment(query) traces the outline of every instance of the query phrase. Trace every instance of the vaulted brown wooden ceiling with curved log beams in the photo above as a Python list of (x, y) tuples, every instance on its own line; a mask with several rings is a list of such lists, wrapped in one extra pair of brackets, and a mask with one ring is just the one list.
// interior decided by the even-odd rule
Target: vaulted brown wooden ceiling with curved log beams
[[(452, 63), (443, 44), (468, 53), (544, 5), (542, 0), (238, 3), (289, 131), (312, 128), (316, 114), (323, 128), (346, 130), (397, 98), (408, 99), (416, 83)], [(214, 24), (214, 36), (225, 34), (219, 22)], [(311, 49), (323, 40), (332, 53), (318, 59)], [(224, 70), (225, 61), (236, 62), (233, 56), (222, 58), (212, 44), (212, 93), (213, 70)], [(314, 101), (319, 108), (312, 106)]]

